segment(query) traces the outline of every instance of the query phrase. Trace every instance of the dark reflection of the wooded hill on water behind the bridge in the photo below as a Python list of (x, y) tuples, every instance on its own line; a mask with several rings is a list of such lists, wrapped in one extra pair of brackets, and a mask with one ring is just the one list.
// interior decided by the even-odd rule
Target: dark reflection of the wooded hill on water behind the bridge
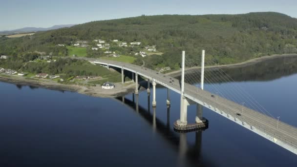
[[(224, 72), (219, 69), (222, 69)], [(188, 70), (185, 72), (185, 77), (191, 77), (193, 73), (200, 75), (200, 70)], [(226, 83), (226, 77), (231, 77), (236, 82), (272, 81), (296, 73), (297, 57), (281, 57), (237, 67), (215, 67), (205, 69), (205, 75), (209, 77), (209, 80), (206, 81), (207, 83)], [(180, 79), (180, 76), (177, 76), (176, 78)], [(192, 79), (192, 82), (189, 84), (196, 83), (200, 83), (200, 80)]]

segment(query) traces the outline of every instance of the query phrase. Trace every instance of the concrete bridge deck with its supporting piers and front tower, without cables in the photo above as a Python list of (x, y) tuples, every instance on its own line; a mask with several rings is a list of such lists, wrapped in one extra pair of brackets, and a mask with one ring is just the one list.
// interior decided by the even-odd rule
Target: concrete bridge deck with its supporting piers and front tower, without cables
[[(207, 124), (207, 120), (202, 117), (202, 106), (211, 109), (217, 114), (226, 117), (230, 121), (235, 122), (238, 125), (249, 129), (256, 134), (270, 140), (271, 142), (279, 145), (294, 154), (297, 154), (297, 128), (286, 123), (283, 123), (275, 118), (264, 115), (258, 111), (251, 108), (243, 106), (241, 104), (234, 103), (228, 99), (220, 96), (212, 97), (212, 93), (203, 90), (203, 86), (197, 89), (195, 85), (184, 83), (184, 54), (183, 54), (183, 68), (182, 68), (182, 79), (181, 81), (166, 76), (155, 70), (148, 69), (143, 66), (138, 66), (130, 63), (122, 63), (101, 59), (92, 58), (74, 58), (82, 59), (92, 63), (101, 64), (108, 66), (113, 66), (120, 68), (122, 70), (122, 83), (124, 84), (124, 70), (132, 72), (135, 74), (135, 93), (138, 94), (138, 76), (142, 76), (148, 79), (148, 92), (149, 84), (152, 84), (152, 105), (156, 106), (156, 96), (155, 96), (155, 86), (156, 84), (161, 84), (168, 88), (168, 100), (167, 103), (170, 104), (169, 99), (169, 89), (181, 94), (181, 108), (180, 108), (180, 119), (174, 124), (174, 128), (177, 130), (187, 130), (188, 127), (192, 128), (203, 128)], [(204, 66), (204, 63), (203, 63)], [(203, 83), (202, 83), (203, 85)], [(197, 112), (195, 122), (196, 124), (190, 125), (187, 122), (187, 106), (191, 104), (197, 105)]]

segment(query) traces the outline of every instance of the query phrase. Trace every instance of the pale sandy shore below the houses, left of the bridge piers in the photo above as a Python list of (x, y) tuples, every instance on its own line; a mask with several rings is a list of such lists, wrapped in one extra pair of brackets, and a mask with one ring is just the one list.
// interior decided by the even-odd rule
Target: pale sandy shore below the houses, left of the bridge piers
[(62, 90), (78, 92), (80, 94), (85, 94), (94, 97), (120, 97), (135, 91), (135, 84), (122, 85), (120, 83), (115, 83), (115, 88), (106, 90), (102, 89), (101, 86), (82, 86), (76, 84), (59, 84), (53, 81), (41, 81), (41, 80), (30, 80), (24, 77), (18, 76), (0, 76), (0, 82), (18, 84), (18, 85), (31, 85), (42, 87), (52, 90)]

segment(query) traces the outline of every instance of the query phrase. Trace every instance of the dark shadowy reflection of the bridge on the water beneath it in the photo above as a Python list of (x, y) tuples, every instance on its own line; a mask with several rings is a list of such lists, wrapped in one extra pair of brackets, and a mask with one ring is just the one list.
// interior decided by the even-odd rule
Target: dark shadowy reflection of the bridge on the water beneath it
[(192, 132), (195, 133), (195, 144), (188, 144), (187, 133), (177, 133), (171, 128), (170, 106), (167, 107), (167, 121), (164, 123), (156, 118), (155, 107), (152, 107), (152, 112), (150, 111), (150, 95), (148, 94), (148, 109), (138, 104), (138, 96), (139, 95), (132, 94), (132, 100), (125, 97), (115, 99), (132, 108), (135, 113), (144, 118), (144, 120), (152, 126), (153, 132), (160, 134), (171, 147), (178, 152), (179, 166), (185, 167), (188, 164), (194, 166), (212, 166), (212, 164), (206, 162), (201, 155), (202, 131)]

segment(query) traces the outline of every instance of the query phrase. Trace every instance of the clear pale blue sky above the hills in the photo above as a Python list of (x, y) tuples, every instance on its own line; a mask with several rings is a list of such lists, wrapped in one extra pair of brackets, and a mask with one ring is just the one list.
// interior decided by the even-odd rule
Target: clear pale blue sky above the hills
[(274, 11), (297, 18), (297, 0), (0, 0), (0, 31), (145, 15)]

